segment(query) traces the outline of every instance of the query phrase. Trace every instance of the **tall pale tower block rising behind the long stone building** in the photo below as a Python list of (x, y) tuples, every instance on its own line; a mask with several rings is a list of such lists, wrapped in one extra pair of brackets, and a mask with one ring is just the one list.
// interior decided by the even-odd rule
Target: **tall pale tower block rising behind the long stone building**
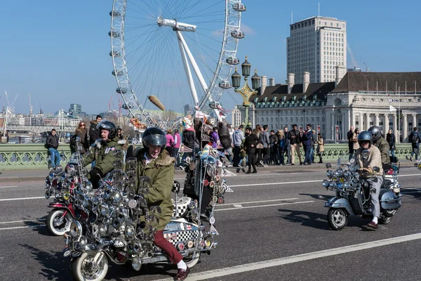
[[(335, 81), (335, 67), (342, 77), (347, 66), (347, 22), (336, 18), (312, 17), (290, 25), (286, 39), (286, 73), (295, 75), (295, 83)], [(289, 79), (289, 78), (288, 78)]]

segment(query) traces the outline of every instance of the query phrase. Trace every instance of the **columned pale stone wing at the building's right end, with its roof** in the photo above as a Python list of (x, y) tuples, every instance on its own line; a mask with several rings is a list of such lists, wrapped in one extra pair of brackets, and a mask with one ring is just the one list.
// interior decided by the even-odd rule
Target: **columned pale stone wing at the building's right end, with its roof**
[(421, 126), (421, 72), (347, 72), (328, 94), (325, 110), (326, 139), (334, 140), (338, 130), (345, 135), (350, 126), (380, 126), (406, 143), (413, 127)]

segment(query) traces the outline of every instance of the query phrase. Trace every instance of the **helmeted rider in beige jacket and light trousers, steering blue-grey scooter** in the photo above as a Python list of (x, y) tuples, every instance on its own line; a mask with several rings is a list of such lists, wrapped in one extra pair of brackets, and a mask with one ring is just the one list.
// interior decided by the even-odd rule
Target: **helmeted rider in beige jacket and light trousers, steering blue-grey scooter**
[[(382, 157), (380, 150), (372, 144), (372, 134), (362, 131), (357, 136), (360, 148), (355, 152), (356, 163), (359, 164), (363, 172), (361, 176), (366, 178), (370, 184), (371, 204), (373, 206), (373, 221), (368, 223), (370, 228), (378, 228), (377, 221), (380, 217), (379, 192), (383, 183)], [(374, 168), (378, 168), (378, 170)], [(373, 191), (374, 190), (374, 191)]]

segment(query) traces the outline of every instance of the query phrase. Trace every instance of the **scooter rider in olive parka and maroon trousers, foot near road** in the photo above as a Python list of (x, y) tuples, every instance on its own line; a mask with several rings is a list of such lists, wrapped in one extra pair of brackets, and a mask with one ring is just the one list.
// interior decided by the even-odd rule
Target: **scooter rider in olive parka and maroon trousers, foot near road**
[[(151, 185), (149, 193), (145, 194), (148, 207), (161, 207), (161, 214), (156, 214), (159, 221), (154, 223), (154, 243), (161, 248), (172, 263), (178, 267), (175, 280), (185, 280), (189, 274), (189, 268), (182, 260), (181, 254), (173, 244), (163, 237), (163, 230), (170, 222), (173, 215), (173, 203), (171, 201), (171, 189), (174, 180), (174, 162), (166, 147), (166, 136), (161, 129), (149, 128), (142, 135), (142, 150), (138, 150), (138, 176), (149, 176)], [(138, 190), (136, 190), (138, 192)]]

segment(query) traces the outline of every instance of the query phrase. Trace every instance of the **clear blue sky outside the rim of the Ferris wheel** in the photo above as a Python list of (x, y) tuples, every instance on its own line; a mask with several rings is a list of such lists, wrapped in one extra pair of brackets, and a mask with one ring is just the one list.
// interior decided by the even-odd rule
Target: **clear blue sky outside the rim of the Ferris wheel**
[[(178, 1), (173, 0), (176, 4)], [(134, 1), (142, 4), (142, 1)], [(354, 57), (373, 72), (420, 71), (421, 37), (418, 15), (421, 1), (248, 0), (242, 1), (246, 37), (237, 57), (245, 55), (258, 74), (286, 80), (286, 37), (293, 21), (318, 14), (347, 21), (347, 39)], [(129, 3), (130, 4), (130, 3)], [(128, 4), (128, 5), (129, 5)], [(112, 0), (15, 0), (4, 1), (0, 18), (0, 106), (7, 105), (4, 90), (15, 112), (69, 109), (80, 103), (95, 114), (116, 108), (116, 80), (109, 57), (109, 11)], [(349, 58), (349, 55), (348, 55)], [(352, 67), (350, 59), (348, 67)], [(185, 84), (185, 78), (182, 84)], [(176, 84), (175, 84), (176, 86)], [(226, 110), (241, 103), (232, 90), (222, 96)]]

